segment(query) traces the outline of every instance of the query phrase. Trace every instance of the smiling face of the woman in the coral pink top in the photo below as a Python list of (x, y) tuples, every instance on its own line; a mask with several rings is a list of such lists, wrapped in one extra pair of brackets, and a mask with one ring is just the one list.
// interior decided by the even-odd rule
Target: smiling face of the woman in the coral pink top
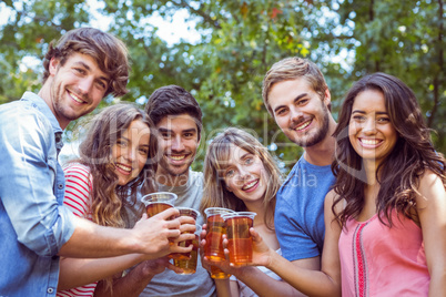
[(355, 98), (348, 137), (364, 162), (374, 162), (376, 166), (393, 151), (398, 135), (391, 123), (381, 91), (366, 90)]

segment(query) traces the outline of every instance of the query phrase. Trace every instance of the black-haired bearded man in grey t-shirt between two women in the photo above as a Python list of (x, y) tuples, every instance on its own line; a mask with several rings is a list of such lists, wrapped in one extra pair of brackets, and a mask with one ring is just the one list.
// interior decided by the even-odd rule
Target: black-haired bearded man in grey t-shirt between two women
[[(156, 186), (160, 192), (178, 195), (175, 206), (199, 211), (203, 194), (203, 173), (192, 171), (202, 132), (202, 111), (196, 100), (178, 85), (155, 90), (145, 105), (159, 132), (161, 160), (156, 171)], [(139, 207), (136, 205), (136, 207)], [(196, 224), (203, 224), (199, 216)], [(216, 296), (215, 285), (207, 270), (199, 265), (192, 275), (178, 275), (145, 262), (130, 270), (113, 284), (115, 296)], [(103, 289), (95, 296), (108, 296)]]

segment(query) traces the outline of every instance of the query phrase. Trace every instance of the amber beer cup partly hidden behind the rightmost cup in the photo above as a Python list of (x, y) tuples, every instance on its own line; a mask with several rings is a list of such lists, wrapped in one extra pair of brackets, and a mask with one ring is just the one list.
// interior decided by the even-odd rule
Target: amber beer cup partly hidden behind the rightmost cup
[(222, 207), (209, 207), (204, 211), (207, 221), (206, 245), (204, 246), (204, 256), (211, 262), (225, 260), (223, 249), (223, 234), (226, 233), (222, 214), (233, 213), (234, 211)]

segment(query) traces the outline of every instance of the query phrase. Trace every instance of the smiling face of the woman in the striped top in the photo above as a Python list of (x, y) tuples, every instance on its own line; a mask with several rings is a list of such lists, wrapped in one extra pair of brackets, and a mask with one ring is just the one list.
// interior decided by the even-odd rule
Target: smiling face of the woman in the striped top
[(134, 120), (112, 146), (112, 161), (119, 185), (126, 185), (144, 167), (149, 155), (150, 129), (141, 120)]

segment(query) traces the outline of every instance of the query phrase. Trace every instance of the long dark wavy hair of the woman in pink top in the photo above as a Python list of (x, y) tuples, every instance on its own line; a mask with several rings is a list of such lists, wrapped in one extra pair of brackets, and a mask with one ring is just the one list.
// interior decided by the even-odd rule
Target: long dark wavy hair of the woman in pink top
[[(348, 91), (334, 136), (336, 137), (335, 161), (332, 170), (336, 176), (334, 191), (337, 197), (332, 207), (336, 218), (345, 226), (349, 217), (356, 217), (364, 207), (364, 170), (362, 158), (348, 140), (348, 124), (352, 106), (356, 96), (366, 90), (376, 90), (384, 94), (385, 106), (392, 125), (397, 132), (397, 142), (391, 154), (381, 163), (376, 178), (381, 184), (376, 209), (383, 224), (383, 216), (392, 226), (391, 212), (414, 219), (416, 214), (415, 197), (419, 180), (426, 170), (437, 174), (446, 185), (446, 162), (437, 153), (430, 141), (427, 127), (414, 92), (401, 80), (385, 73), (369, 74), (357, 81)], [(335, 205), (344, 203), (339, 214)]]

